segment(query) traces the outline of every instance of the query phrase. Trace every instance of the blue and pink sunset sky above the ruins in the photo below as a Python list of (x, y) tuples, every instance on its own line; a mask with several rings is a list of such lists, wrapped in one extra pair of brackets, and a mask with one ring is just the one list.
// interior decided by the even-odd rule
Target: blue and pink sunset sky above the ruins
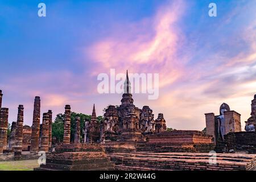
[[(38, 3), (46, 3), (46, 17)], [(217, 17), (208, 5), (217, 5)], [(99, 94), (97, 76), (159, 73), (159, 98), (133, 94), (167, 126), (203, 130), (204, 113), (222, 102), (250, 117), (256, 94), (256, 1), (0, 1), (0, 89), (9, 122), (24, 105), (32, 125), (35, 96), (41, 114), (97, 115), (120, 105), (122, 94)], [(42, 122), (42, 121), (41, 121)]]

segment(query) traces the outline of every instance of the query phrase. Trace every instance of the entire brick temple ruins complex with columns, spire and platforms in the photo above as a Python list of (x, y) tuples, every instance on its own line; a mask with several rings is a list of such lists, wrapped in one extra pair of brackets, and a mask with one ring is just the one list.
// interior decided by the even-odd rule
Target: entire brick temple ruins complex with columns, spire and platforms
[[(14, 154), (11, 158), (15, 160), (38, 159), (38, 152), (44, 151), (47, 154), (46, 164), (35, 170), (46, 171), (251, 170), (256, 167), (256, 133), (251, 126), (255, 124), (255, 96), (251, 117), (246, 122), (250, 130), (241, 131), (240, 114), (224, 103), (220, 106), (220, 115), (205, 114), (206, 133), (195, 130), (166, 131), (162, 113), (155, 119), (149, 106), (139, 109), (134, 105), (128, 75), (124, 89), (121, 105), (110, 105), (101, 121), (93, 105), (91, 119), (85, 121), (82, 133), (81, 118), (76, 117), (73, 140), (71, 106), (65, 105), (63, 142), (53, 146), (51, 110), (43, 113), (40, 132), (40, 97), (35, 97), (32, 127), (23, 126), (24, 107), (19, 105), (17, 121), (11, 126), (9, 144), (9, 109), (0, 108), (0, 154)], [(2, 91), (0, 96), (2, 101)], [(52, 147), (55, 150), (51, 150)], [(226, 154), (218, 154), (217, 164), (209, 166), (208, 152), (213, 150)], [(31, 154), (24, 154), (24, 151)], [(238, 154), (230, 154), (234, 152)]]

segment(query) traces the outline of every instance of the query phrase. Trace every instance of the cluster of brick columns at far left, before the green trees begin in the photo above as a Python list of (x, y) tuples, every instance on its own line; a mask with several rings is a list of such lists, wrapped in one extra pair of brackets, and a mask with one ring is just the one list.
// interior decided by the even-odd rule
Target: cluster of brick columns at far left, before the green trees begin
[[(9, 138), (9, 146), (7, 146), (7, 128), (9, 109), (2, 108), (2, 90), (0, 90), (0, 154), (3, 150), (14, 151), (19, 155), (22, 152), (23, 140), (23, 105), (18, 107), (17, 122), (11, 125), (11, 133)], [(39, 131), (40, 131), (40, 97), (36, 96), (34, 101), (34, 113), (31, 134), (30, 152), (39, 151)], [(52, 111), (43, 113), (43, 135), (40, 150), (48, 151), (52, 147)]]

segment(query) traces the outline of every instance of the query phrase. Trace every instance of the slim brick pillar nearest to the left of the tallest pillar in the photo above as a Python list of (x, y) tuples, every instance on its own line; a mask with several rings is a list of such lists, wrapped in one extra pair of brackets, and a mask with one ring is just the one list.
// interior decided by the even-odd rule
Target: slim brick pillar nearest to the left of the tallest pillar
[(16, 133), (15, 133), (15, 146), (14, 155), (19, 156), (22, 153), (22, 140), (23, 140), (23, 105), (18, 107), (18, 117), (16, 123)]

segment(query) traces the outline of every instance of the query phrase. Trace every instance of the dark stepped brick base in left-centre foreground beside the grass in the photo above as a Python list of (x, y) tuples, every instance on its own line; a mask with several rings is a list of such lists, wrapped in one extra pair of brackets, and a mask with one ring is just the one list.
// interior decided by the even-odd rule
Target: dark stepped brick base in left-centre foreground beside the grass
[(46, 164), (35, 171), (99, 171), (111, 170), (114, 163), (98, 144), (62, 144), (47, 154)]

